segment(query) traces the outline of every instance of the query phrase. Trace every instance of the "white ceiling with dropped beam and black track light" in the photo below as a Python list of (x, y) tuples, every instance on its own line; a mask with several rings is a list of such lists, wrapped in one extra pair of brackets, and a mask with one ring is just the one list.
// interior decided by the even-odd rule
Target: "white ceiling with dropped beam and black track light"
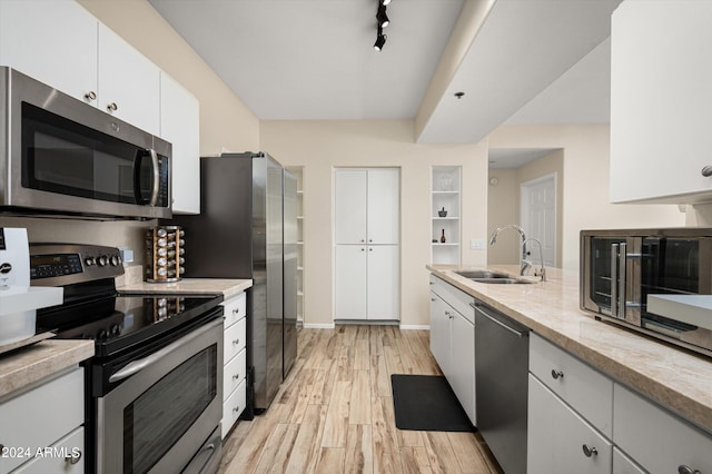
[[(415, 119), (435, 93), (418, 142), (477, 142), (502, 124), (609, 121), (621, 0), (393, 0), (380, 52), (377, 0), (149, 1), (260, 120)], [(473, 2), (486, 20), (433, 88)]]

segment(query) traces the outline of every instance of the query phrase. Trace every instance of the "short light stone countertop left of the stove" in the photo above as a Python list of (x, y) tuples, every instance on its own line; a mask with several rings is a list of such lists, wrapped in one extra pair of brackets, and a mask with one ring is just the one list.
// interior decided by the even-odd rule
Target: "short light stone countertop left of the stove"
[(93, 340), (46, 339), (0, 354), (0, 401), (93, 356)]

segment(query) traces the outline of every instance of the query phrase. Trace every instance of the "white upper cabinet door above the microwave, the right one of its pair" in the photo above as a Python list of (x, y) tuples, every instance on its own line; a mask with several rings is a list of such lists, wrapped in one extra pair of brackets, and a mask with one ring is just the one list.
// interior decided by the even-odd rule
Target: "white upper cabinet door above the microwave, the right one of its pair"
[(101, 23), (97, 103), (141, 130), (160, 132), (160, 70)]

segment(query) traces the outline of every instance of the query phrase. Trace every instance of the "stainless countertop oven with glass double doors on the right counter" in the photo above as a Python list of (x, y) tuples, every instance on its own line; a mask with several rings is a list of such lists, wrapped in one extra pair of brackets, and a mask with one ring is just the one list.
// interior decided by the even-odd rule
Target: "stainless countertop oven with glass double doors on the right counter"
[(651, 305), (712, 294), (712, 228), (582, 230), (580, 268), (582, 309), (712, 356), (712, 320), (690, 324)]

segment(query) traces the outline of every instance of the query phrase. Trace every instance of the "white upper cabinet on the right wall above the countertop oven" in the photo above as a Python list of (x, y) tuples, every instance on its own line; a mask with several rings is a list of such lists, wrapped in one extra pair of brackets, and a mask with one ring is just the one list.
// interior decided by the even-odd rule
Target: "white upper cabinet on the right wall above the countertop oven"
[(614, 11), (611, 201), (712, 200), (710, 24), (709, 1), (626, 0)]

